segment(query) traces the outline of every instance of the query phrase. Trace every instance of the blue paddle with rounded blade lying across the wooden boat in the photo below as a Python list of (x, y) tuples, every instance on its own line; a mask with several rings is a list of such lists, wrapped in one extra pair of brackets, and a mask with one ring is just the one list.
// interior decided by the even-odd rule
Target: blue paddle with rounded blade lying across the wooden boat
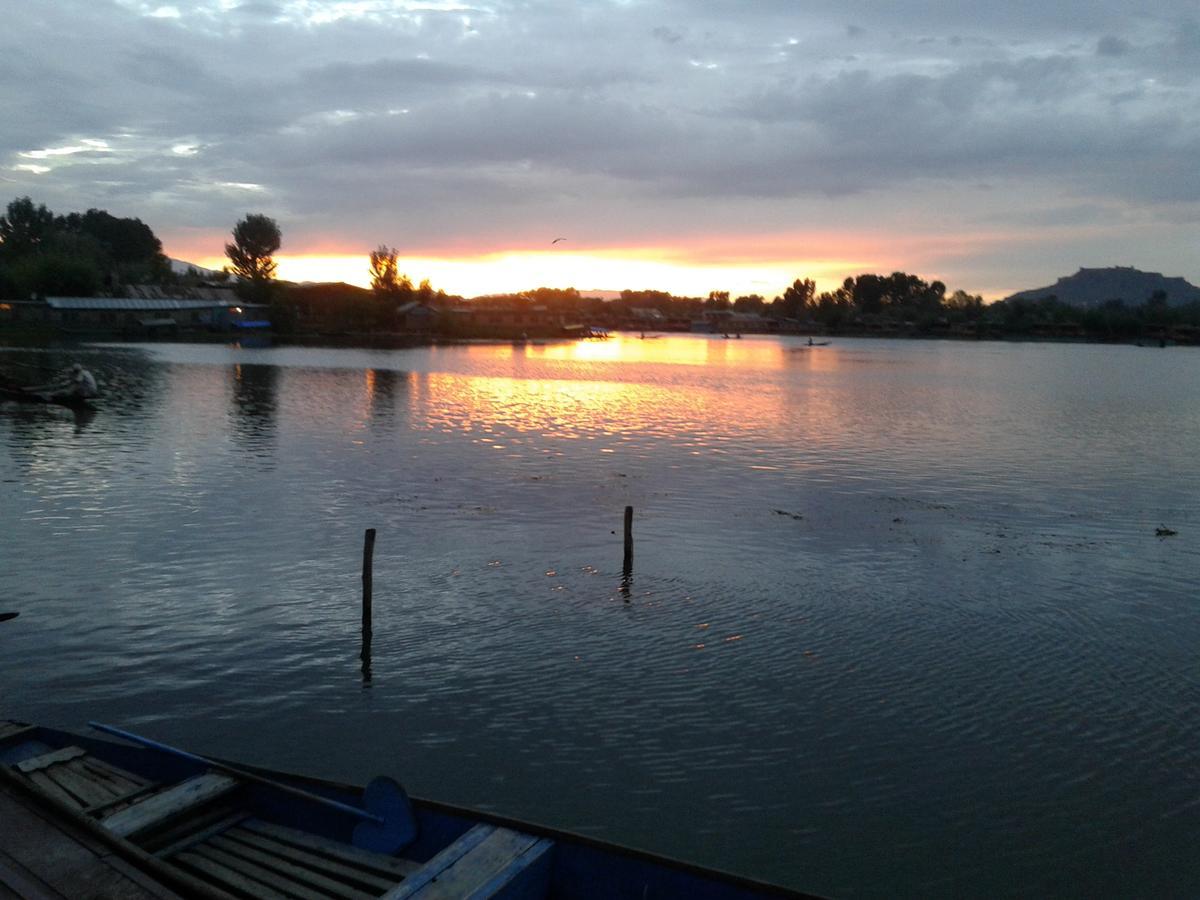
[(358, 806), (338, 803), (337, 800), (331, 800), (328, 797), (310, 793), (308, 791), (304, 791), (299, 787), (292, 787), (292, 785), (281, 784), (274, 779), (257, 775), (253, 772), (246, 772), (245, 769), (239, 769), (234, 766), (228, 766), (223, 762), (199, 756), (198, 754), (190, 754), (186, 750), (180, 750), (179, 748), (160, 744), (157, 740), (151, 740), (150, 738), (144, 738), (140, 734), (115, 728), (112, 725), (88, 722), (88, 727), (96, 728), (97, 731), (103, 731), (109, 734), (115, 734), (119, 738), (125, 738), (134, 744), (149, 746), (152, 750), (160, 750), (164, 754), (172, 754), (185, 760), (191, 760), (192, 762), (202, 763), (216, 769), (217, 772), (224, 772), (226, 774), (234, 775), (235, 778), (240, 778), (245, 781), (268, 785), (269, 787), (274, 787), (283, 793), (301, 797), (312, 803), (356, 816), (364, 820), (354, 829), (354, 846), (356, 847), (373, 850), (376, 853), (395, 853), (397, 850), (412, 844), (416, 838), (416, 820), (408, 804), (408, 794), (404, 793), (404, 788), (401, 787), (398, 782), (390, 778), (376, 778), (367, 785), (366, 790), (362, 792), (362, 800), (367, 809), (360, 809)]

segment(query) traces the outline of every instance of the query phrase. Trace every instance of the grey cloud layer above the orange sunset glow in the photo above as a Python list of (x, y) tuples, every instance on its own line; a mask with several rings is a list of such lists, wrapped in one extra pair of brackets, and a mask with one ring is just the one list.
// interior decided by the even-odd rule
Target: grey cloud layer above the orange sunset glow
[(160, 230), (262, 208), (364, 240), (571, 203), (768, 198), (769, 224), (914, 180), (1200, 200), (1190, 2), (356, 8), (0, 0), (0, 173)]

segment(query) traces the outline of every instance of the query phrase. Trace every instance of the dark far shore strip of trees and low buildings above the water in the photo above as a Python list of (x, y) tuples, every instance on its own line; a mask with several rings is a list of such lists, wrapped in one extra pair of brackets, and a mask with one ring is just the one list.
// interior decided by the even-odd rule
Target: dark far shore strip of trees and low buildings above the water
[[(608, 331), (1200, 344), (1200, 300), (1160, 288), (1088, 304), (1043, 292), (988, 304), (898, 271), (847, 277), (822, 293), (811, 278), (797, 278), (772, 299), (648, 289), (599, 298), (550, 287), (468, 299), (437, 290), (428, 280), (414, 287), (397, 269), (398, 251), (386, 245), (368, 254), (371, 288), (281, 282), (274, 262), (281, 246), (276, 222), (250, 214), (226, 245), (226, 270), (179, 271), (138, 218), (96, 209), (60, 216), (18, 198), (0, 216), (0, 331), (18, 340), (239, 335), (362, 347), (569, 340)], [(1080, 275), (1086, 271), (1109, 270)], [(1135, 270), (1112, 271), (1166, 283)]]

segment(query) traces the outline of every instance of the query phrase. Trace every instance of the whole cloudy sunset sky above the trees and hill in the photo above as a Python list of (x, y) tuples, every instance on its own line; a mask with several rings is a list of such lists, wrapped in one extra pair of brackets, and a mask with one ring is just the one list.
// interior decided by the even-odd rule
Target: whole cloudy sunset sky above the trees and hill
[[(768, 299), (1200, 283), (1195, 0), (0, 0), (0, 199), (220, 268)], [(554, 239), (562, 238), (558, 242)]]

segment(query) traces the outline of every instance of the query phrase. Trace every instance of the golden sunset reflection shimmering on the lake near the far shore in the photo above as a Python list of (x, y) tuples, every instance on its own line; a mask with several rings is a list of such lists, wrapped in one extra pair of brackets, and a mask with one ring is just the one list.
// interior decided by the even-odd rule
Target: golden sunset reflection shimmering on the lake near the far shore
[[(500, 457), (553, 452), (550, 440), (592, 442), (598, 461), (617, 466), (668, 440), (697, 460), (742, 460), (755, 476), (803, 464), (814, 446), (864, 437), (862, 416), (828, 378), (854, 352), (802, 348), (804, 340), (630, 332), (442, 346), (422, 352), (410, 374), (305, 372), (286, 394), (289, 406), (341, 421), (348, 438), (407, 422), (428, 442), (462, 434)], [(234, 377), (253, 379), (253, 368)]]

